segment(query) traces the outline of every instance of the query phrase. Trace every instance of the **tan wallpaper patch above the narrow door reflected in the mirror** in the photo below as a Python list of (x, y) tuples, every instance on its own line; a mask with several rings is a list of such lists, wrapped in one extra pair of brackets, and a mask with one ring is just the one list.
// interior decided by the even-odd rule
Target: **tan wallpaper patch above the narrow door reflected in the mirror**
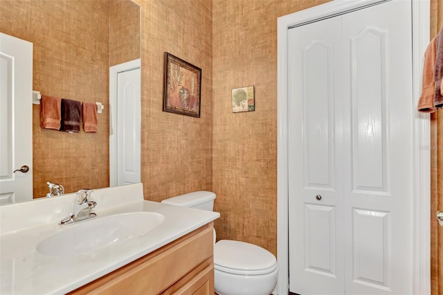
[(109, 0), (109, 66), (140, 58), (140, 7), (129, 0)]

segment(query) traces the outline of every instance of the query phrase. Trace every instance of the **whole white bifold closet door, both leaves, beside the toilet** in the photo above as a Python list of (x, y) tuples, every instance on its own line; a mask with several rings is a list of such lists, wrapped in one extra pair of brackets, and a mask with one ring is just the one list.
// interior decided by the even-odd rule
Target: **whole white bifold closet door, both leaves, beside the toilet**
[(410, 7), (288, 32), (291, 292), (412, 294)]

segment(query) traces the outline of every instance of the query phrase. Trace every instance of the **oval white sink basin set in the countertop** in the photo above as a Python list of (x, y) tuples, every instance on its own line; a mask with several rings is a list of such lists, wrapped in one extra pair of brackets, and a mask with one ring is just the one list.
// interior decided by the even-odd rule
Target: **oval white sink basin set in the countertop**
[(134, 212), (96, 217), (55, 233), (37, 245), (37, 252), (50, 256), (74, 256), (136, 238), (159, 226), (165, 217), (154, 212)]

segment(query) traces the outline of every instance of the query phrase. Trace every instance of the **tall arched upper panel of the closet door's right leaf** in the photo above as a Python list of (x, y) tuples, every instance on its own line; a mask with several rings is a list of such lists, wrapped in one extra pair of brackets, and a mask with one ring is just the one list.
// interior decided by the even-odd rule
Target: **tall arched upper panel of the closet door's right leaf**
[(386, 33), (363, 28), (349, 39), (353, 190), (386, 190)]

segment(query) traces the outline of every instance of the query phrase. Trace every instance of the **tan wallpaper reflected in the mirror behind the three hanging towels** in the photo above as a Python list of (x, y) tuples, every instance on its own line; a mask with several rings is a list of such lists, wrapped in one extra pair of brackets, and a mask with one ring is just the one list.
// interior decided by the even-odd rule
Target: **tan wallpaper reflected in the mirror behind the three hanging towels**
[(66, 193), (109, 186), (108, 16), (106, 0), (0, 1), (0, 31), (34, 44), (33, 89), (105, 105), (97, 134), (41, 129), (33, 105), (34, 197), (46, 181)]

